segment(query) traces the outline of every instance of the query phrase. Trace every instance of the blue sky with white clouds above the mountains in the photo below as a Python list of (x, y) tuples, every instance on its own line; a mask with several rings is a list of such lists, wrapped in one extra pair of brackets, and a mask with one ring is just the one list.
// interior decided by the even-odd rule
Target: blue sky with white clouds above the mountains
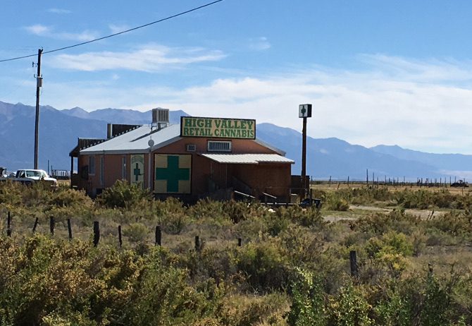
[[(0, 60), (211, 1), (1, 1)], [(367, 147), (472, 154), (472, 1), (223, 0), (42, 56), (41, 104), (182, 109)], [(0, 62), (0, 101), (35, 105), (36, 58)], [(77, 135), (80, 136), (80, 135)]]

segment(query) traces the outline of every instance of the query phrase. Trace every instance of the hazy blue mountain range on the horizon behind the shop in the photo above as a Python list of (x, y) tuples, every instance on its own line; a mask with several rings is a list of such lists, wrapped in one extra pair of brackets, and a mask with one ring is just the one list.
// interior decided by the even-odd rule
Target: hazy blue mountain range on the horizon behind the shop
[[(185, 111), (170, 111), (170, 123), (179, 123)], [(38, 165), (42, 169), (70, 169), (70, 150), (77, 138), (106, 138), (107, 123), (151, 123), (151, 110), (85, 111), (80, 107), (39, 109)], [(8, 171), (28, 168), (34, 161), (35, 107), (0, 102), (0, 167)], [(284, 150), (295, 161), (292, 174), (300, 174), (302, 133), (272, 123), (256, 125), (256, 136)], [(431, 154), (399, 146), (352, 145), (338, 138), (306, 141), (306, 174), (313, 179), (365, 180), (403, 178), (466, 179), (472, 177), (472, 155)]]

